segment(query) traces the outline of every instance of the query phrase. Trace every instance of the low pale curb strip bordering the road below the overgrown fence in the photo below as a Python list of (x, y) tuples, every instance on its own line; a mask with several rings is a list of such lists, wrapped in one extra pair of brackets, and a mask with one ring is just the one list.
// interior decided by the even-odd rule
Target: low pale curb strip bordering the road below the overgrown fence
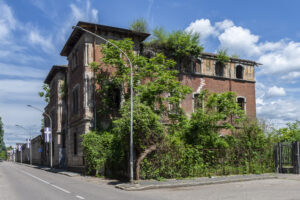
[[(224, 178), (224, 177), (222, 177)], [(231, 177), (232, 178), (232, 177)], [(116, 185), (115, 187), (125, 191), (142, 191), (142, 190), (150, 190), (150, 189), (161, 189), (161, 188), (177, 188), (177, 187), (191, 187), (191, 186), (201, 186), (201, 185), (213, 185), (213, 184), (224, 184), (224, 183), (234, 183), (234, 182), (243, 182), (243, 181), (254, 181), (254, 180), (266, 180), (266, 179), (277, 179), (276, 175), (262, 176), (262, 177), (237, 177), (233, 179), (227, 180), (214, 180), (218, 179), (211, 178), (206, 181), (199, 182), (191, 182), (191, 183), (177, 183), (177, 184), (150, 184), (150, 185), (140, 185), (140, 184), (129, 184), (123, 183)]]

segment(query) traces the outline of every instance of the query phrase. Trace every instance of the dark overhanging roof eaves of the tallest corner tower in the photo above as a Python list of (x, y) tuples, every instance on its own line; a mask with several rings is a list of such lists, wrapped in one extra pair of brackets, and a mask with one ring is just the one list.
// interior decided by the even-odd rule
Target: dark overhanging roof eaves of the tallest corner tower
[[(139, 42), (144, 41), (150, 34), (149, 33), (142, 33), (142, 32), (137, 32), (137, 31), (132, 31), (129, 29), (124, 29), (124, 28), (117, 28), (117, 27), (112, 27), (112, 26), (106, 26), (106, 25), (101, 25), (101, 24), (94, 24), (90, 22), (82, 22), (79, 21), (77, 23), (77, 26), (80, 26), (84, 29), (87, 29), (91, 32), (99, 34), (99, 32), (110, 32), (110, 33), (118, 33), (121, 35), (124, 35), (129, 38), (138, 38)], [(71, 52), (72, 48), (76, 44), (76, 42), (80, 39), (80, 37), (83, 35), (84, 31), (80, 29), (74, 29), (73, 32), (71, 33), (69, 39), (67, 40), (65, 46), (63, 47), (62, 51), (60, 52), (61, 56), (68, 56), (69, 53)]]

